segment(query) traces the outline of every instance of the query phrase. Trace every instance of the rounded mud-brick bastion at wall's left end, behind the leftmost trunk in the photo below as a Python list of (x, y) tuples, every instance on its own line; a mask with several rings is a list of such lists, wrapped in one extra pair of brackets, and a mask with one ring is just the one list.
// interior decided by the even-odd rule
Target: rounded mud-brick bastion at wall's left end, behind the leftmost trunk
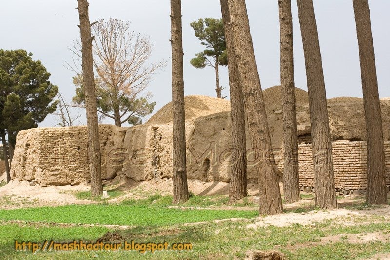
[[(115, 177), (117, 168), (108, 167), (106, 150), (121, 147), (121, 128), (101, 125), (102, 178)], [(122, 138), (122, 139), (121, 139)], [(21, 131), (12, 160), (11, 178), (38, 184), (78, 184), (90, 179), (86, 127), (36, 128)]]

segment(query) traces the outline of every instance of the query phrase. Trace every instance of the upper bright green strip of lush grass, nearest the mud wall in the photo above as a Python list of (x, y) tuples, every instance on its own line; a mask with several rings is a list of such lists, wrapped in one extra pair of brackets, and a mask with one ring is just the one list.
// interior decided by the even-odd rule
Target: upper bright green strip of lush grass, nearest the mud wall
[(164, 226), (228, 218), (254, 218), (258, 212), (238, 210), (189, 210), (143, 205), (67, 205), (0, 210), (0, 220), (55, 223)]

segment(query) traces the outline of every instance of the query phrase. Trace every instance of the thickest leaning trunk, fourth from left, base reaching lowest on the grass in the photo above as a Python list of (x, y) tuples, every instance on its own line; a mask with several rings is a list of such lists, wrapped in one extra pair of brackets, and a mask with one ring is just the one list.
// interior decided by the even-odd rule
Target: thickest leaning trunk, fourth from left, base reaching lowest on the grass
[(245, 0), (228, 0), (234, 48), (241, 79), (254, 164), (259, 174), (259, 214), (282, 213), (282, 199), (273, 158)]

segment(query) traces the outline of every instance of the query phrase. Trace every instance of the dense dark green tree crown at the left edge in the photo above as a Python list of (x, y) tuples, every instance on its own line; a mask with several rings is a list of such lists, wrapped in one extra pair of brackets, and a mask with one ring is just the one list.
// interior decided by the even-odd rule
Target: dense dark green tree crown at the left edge
[(15, 146), (21, 130), (34, 128), (57, 108), (50, 73), (25, 50), (0, 50), (0, 130)]

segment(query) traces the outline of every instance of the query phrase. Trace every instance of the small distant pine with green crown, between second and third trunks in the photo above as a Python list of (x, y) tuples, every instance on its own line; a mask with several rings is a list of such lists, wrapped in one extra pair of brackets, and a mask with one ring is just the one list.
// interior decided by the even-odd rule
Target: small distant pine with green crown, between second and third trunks
[(195, 54), (190, 63), (197, 69), (203, 69), (206, 66), (215, 68), (216, 75), (216, 93), (221, 97), (223, 88), (219, 86), (219, 66), (228, 65), (228, 56), (226, 52), (226, 39), (223, 19), (205, 18), (194, 21), (191, 27), (195, 31), (195, 36), (200, 40), (200, 44), (206, 46), (206, 49)]

